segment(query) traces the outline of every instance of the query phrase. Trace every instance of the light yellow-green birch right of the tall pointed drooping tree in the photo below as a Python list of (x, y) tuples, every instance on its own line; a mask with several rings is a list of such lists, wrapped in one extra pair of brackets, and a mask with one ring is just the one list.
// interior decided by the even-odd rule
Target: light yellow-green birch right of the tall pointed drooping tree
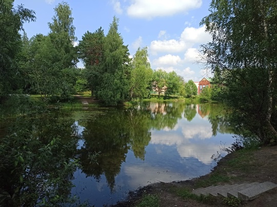
[(131, 63), (130, 98), (143, 99), (150, 94), (153, 71), (148, 61), (147, 48), (138, 48)]

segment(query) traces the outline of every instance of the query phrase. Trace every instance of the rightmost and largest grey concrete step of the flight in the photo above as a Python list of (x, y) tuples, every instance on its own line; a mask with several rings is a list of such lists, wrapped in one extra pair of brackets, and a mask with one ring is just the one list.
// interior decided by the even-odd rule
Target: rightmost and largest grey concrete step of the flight
[(273, 182), (266, 181), (260, 183), (258, 186), (253, 186), (238, 192), (238, 196), (241, 200), (253, 200), (258, 198), (262, 193), (277, 188), (277, 185)]

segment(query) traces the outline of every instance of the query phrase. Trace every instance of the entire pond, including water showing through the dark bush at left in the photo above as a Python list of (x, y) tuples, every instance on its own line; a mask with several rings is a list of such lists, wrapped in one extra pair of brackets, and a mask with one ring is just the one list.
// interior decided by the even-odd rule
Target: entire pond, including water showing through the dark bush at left
[[(151, 183), (186, 180), (209, 173), (215, 166), (211, 156), (217, 152), (226, 155), (221, 149), (234, 142), (224, 113), (219, 104), (174, 102), (70, 112), (51, 110), (28, 118), (19, 117), (0, 124), (0, 137), (8, 134), (8, 128), (12, 128), (8, 140), (27, 137), (22, 143), (15, 139), (10, 144), (19, 142), (21, 146), (18, 147), (21, 156), (16, 152), (11, 158), (16, 157), (16, 165), (22, 161), (24, 175), (14, 175), (20, 176), (20, 182), (8, 174), (0, 178), (11, 179), (12, 186), (27, 183), (23, 189), (31, 189), (32, 182), (33, 188), (51, 186), (39, 192), (41, 196), (50, 189), (55, 198), (53, 190), (57, 188), (57, 192), (70, 194), (71, 191), (82, 202), (88, 201), (95, 207), (115, 204), (125, 199), (129, 191)], [(60, 137), (63, 144), (55, 147), (53, 137)], [(67, 164), (74, 158), (80, 163), (77, 169)], [(64, 171), (57, 171), (57, 167), (65, 166), (72, 172), (59, 175)], [(65, 185), (57, 181), (61, 177), (74, 187), (69, 191), (59, 190)], [(58, 184), (47, 183), (51, 179)], [(9, 190), (10, 186), (6, 188)], [(69, 188), (66, 185), (63, 188), (66, 187)], [(5, 192), (11, 191), (8, 190)]]

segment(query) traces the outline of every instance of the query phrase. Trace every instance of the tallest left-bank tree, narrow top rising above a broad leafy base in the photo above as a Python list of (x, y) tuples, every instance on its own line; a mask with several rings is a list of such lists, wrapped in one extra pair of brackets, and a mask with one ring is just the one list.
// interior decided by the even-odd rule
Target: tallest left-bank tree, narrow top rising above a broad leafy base
[(77, 53), (73, 47), (74, 26), (71, 10), (67, 3), (54, 9), (53, 23), (48, 23), (50, 33), (31, 38), (29, 68), (31, 88), (50, 101), (68, 101), (74, 93), (77, 80)]

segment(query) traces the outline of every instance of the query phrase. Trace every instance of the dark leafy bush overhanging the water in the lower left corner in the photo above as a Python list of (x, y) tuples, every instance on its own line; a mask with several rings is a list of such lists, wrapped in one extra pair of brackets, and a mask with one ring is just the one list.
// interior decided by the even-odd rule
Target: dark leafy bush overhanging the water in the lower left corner
[[(0, 141), (3, 206), (63, 206), (74, 202), (70, 179), (79, 165), (68, 154), (76, 148), (77, 137), (72, 135), (76, 134), (75, 129), (53, 122), (45, 116), (47, 111), (39, 110), (40, 113), (29, 114), (28, 118), (17, 118)], [(45, 119), (39, 120), (38, 116)], [(65, 134), (72, 140), (62, 140), (61, 135)]]

